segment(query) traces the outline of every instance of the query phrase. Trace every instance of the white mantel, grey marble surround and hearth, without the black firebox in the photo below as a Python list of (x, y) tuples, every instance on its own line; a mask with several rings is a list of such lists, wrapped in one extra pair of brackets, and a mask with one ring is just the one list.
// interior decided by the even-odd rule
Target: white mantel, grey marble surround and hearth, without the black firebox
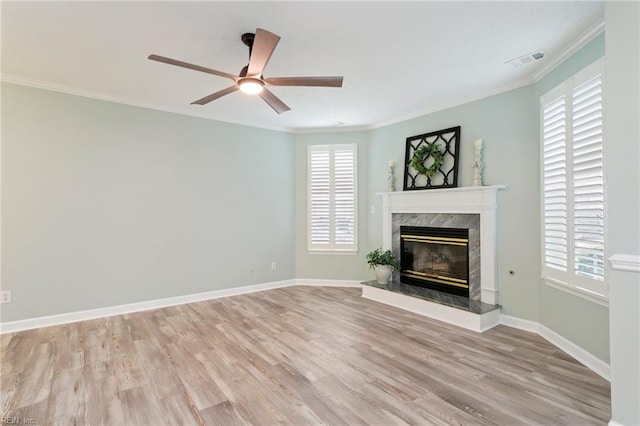
[[(469, 299), (497, 305), (498, 190), (502, 185), (385, 192), (382, 196), (382, 247), (400, 258), (400, 226), (469, 229)], [(399, 281), (396, 271), (394, 281)], [(482, 315), (364, 286), (363, 296), (475, 331), (499, 322), (499, 309)]]

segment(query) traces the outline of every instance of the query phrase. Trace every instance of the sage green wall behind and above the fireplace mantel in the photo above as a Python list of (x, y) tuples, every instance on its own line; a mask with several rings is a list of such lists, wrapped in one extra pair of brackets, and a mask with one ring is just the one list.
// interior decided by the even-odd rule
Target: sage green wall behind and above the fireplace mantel
[[(402, 190), (405, 140), (460, 125), (458, 186), (471, 186), (473, 141), (484, 140), (484, 183), (503, 184), (498, 211), (498, 288), (503, 313), (537, 321), (540, 276), (537, 109), (532, 86), (375, 129), (370, 134), (368, 205), (371, 247), (382, 244), (382, 200), (389, 160), (399, 164)], [(509, 275), (509, 271), (514, 275)]]

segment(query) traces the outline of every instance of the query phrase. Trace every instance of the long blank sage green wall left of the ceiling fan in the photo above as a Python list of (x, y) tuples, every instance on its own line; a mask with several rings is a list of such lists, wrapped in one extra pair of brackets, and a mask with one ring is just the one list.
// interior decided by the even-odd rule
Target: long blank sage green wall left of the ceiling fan
[(1, 135), (3, 322), (294, 278), (290, 134), (3, 84)]

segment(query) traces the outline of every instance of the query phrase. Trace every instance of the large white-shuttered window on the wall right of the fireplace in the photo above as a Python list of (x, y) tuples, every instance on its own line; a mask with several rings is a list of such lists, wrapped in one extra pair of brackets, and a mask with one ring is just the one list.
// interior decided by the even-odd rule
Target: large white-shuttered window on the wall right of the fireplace
[(602, 61), (541, 98), (543, 277), (607, 297)]

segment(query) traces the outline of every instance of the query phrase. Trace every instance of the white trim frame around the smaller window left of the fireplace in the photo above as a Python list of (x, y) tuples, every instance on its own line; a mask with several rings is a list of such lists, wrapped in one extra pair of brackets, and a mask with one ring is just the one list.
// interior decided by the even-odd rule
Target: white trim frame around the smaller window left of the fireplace
[[(331, 247), (322, 248), (313, 246), (311, 243), (311, 179), (310, 164), (311, 152), (315, 149), (333, 148), (335, 147), (352, 147), (353, 148), (353, 173), (354, 173), (354, 244), (349, 248), (338, 248), (331, 242)], [(333, 162), (333, 154), (332, 159)], [(307, 253), (312, 255), (356, 255), (358, 254), (358, 145), (353, 144), (324, 144), (324, 145), (307, 145)], [(333, 214), (333, 213), (331, 213)]]

